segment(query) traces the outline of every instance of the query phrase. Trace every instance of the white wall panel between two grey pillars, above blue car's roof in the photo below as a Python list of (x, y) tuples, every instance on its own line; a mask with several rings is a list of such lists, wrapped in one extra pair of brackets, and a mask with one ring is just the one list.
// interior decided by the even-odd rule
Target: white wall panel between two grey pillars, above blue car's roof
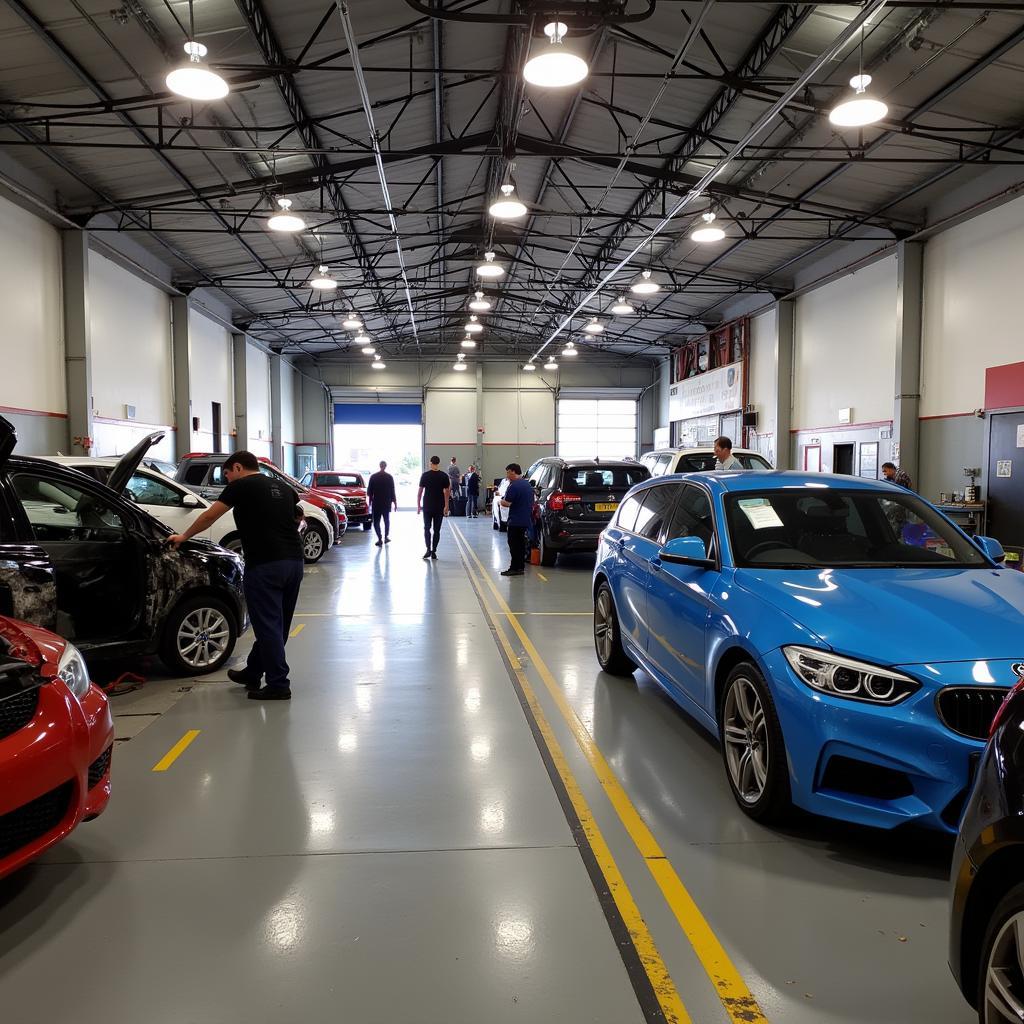
[(896, 257), (802, 295), (796, 303), (793, 428), (893, 418)]

